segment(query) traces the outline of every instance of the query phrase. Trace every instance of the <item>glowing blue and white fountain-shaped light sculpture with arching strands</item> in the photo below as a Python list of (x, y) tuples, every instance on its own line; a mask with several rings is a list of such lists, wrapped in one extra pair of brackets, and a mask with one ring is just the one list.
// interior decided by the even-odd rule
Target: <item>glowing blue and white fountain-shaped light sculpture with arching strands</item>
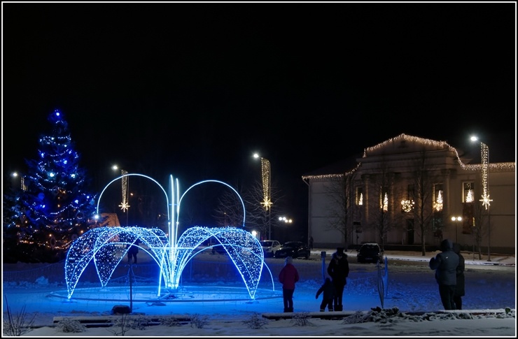
[[(200, 250), (199, 246), (211, 237), (216, 238), (218, 245), (222, 245), (225, 248), (225, 251), (239, 271), (250, 298), (255, 299), (255, 292), (258, 289), (262, 269), (266, 267), (269, 271), (269, 268), (265, 265), (264, 253), (259, 241), (250, 232), (232, 226), (217, 228), (193, 226), (178, 238), (181, 199), (183, 199), (183, 196), (185, 196), (189, 189), (204, 182), (218, 182), (230, 187), (239, 196), (235, 189), (225, 184), (225, 182), (204, 180), (191, 186), (179, 197), (178, 180), (176, 180), (176, 185), (174, 185), (171, 175), (169, 178), (169, 196), (171, 199), (169, 199), (165, 189), (156, 180), (147, 175), (131, 173), (121, 175), (109, 182), (99, 195), (99, 201), (111, 183), (127, 175), (139, 175), (153, 180), (153, 182), (160, 186), (167, 201), (169, 236), (158, 228), (147, 229), (137, 226), (105, 226), (87, 231), (71, 245), (66, 255), (65, 280), (69, 299), (72, 297), (80, 276), (92, 260), (102, 287), (106, 287), (116, 267), (124, 259), (128, 250), (127, 245), (138, 246), (141, 250), (147, 252), (160, 267), (158, 297), (161, 295), (162, 282), (164, 288), (168, 289), (169, 292), (176, 291), (179, 289), (183, 269), (196, 254), (205, 250), (205, 248)], [(241, 196), (239, 196), (239, 199), (244, 211), (244, 203)], [(99, 201), (97, 202), (97, 215), (99, 214)], [(271, 271), (269, 274), (272, 277)]]

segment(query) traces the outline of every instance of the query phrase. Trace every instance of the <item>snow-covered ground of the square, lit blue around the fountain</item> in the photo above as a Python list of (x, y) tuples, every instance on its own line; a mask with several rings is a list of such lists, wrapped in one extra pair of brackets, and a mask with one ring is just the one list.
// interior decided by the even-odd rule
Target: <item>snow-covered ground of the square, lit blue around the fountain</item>
[[(516, 337), (516, 273), (514, 257), (492, 255), (486, 262), (464, 254), (467, 264), (466, 295), (463, 297), (464, 310), (444, 311), (440, 303), (437, 284), (428, 261), (435, 253), (421, 256), (421, 253), (386, 252), (388, 257), (388, 284), (381, 300), (377, 291), (377, 268), (374, 264), (356, 264), (356, 252), (348, 252), (351, 273), (344, 291), (344, 311), (353, 315), (344, 319), (309, 318), (306, 326), (304, 315), (319, 309), (321, 298), (315, 293), (321, 284), (321, 249), (312, 252), (311, 259), (296, 259), (294, 264), (301, 273), (294, 294), (295, 315), (302, 319), (265, 319), (263, 314), (282, 312), (280, 298), (281, 285), (274, 275), (274, 289), (267, 283), (260, 287), (255, 301), (246, 300), (244, 287), (239, 282), (203, 281), (193, 285), (202, 286), (203, 293), (196, 300), (150, 303), (132, 303), (133, 315), (173, 316), (188, 315), (201, 319), (202, 328), (192, 324), (181, 326), (154, 325), (146, 329), (130, 329), (124, 336), (509, 336)], [(324, 250), (329, 254), (332, 250)], [(219, 254), (202, 254), (213, 259)], [(485, 256), (484, 256), (485, 257)], [(203, 258), (203, 257), (202, 257)], [(225, 260), (224, 257), (219, 257)], [(396, 260), (397, 259), (397, 260)], [(145, 264), (145, 257), (139, 257)], [(267, 264), (275, 272), (281, 259), (267, 259)], [(20, 266), (3, 267), (3, 271), (20, 269)], [(25, 267), (25, 269), (29, 269)], [(269, 277), (268, 277), (269, 278)], [(265, 273), (265, 281), (267, 281)], [(50, 282), (49, 282), (50, 281)], [(81, 284), (78, 291), (96, 291), (92, 283)], [(139, 288), (137, 284), (134, 293)], [(66, 301), (55, 297), (55, 292), (64, 290), (62, 282), (52, 282), (49, 277), (38, 277), (34, 281), (3, 282), (3, 319), (6, 319), (6, 301), (11, 314), (22, 310), (34, 318), (34, 329), (24, 336), (115, 336), (118, 327), (87, 328), (80, 333), (60, 332), (53, 324), (54, 317), (94, 317), (111, 315), (113, 305), (130, 305), (127, 286), (109, 290), (111, 294), (123, 295), (122, 302), (94, 300)], [(122, 290), (121, 290), (122, 289)], [(186, 286), (188, 289), (188, 286)], [(209, 296), (209, 292), (211, 296)], [(97, 293), (97, 292), (94, 292)], [(53, 295), (53, 296), (52, 296)], [(78, 292), (78, 296), (80, 293)], [(126, 298), (125, 298), (126, 296)], [(239, 296), (239, 297), (237, 297)], [(273, 297), (272, 297), (273, 296)], [(99, 297), (99, 295), (97, 296)], [(116, 296), (117, 298), (117, 296)], [(210, 301), (200, 301), (209, 298)], [(214, 301), (215, 299), (221, 301)], [(24, 309), (25, 308), (25, 309)], [(506, 313), (505, 308), (509, 311)], [(256, 317), (256, 318), (255, 318)], [(260, 319), (260, 329), (251, 329), (246, 322)], [(255, 322), (258, 323), (257, 321)], [(120, 335), (120, 333), (119, 333)]]

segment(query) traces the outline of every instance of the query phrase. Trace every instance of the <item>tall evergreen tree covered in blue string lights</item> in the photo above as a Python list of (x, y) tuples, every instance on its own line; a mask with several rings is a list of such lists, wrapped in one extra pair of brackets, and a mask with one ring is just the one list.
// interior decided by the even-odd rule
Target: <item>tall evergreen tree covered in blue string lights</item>
[(62, 260), (73, 240), (95, 225), (96, 196), (85, 191), (68, 124), (59, 110), (48, 120), (52, 129), (39, 139), (38, 159), (26, 159), (20, 187), (4, 195), (4, 262)]

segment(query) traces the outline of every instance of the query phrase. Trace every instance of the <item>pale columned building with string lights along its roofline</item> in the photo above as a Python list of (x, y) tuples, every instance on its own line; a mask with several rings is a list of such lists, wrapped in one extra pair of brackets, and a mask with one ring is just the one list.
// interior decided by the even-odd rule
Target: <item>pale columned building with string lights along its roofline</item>
[(444, 141), (401, 134), (348, 167), (303, 175), (308, 238), (323, 248), (428, 248), (449, 238), (463, 250), (514, 254), (516, 163), (469, 162)]

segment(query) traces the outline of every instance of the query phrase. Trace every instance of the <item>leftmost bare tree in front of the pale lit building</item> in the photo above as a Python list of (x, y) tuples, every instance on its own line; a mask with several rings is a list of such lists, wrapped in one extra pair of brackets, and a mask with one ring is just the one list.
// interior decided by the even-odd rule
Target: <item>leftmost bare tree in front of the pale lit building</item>
[(346, 248), (352, 241), (355, 176), (356, 172), (332, 177), (329, 185), (326, 186), (330, 200), (328, 204), (330, 222), (327, 227), (342, 233)]

